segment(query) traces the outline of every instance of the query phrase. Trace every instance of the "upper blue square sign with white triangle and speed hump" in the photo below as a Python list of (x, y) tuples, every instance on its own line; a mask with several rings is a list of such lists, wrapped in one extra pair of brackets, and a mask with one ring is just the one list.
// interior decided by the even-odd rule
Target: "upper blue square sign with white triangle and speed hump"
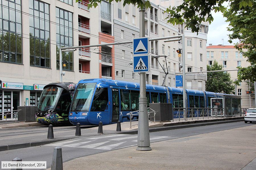
[(148, 37), (140, 37), (133, 39), (133, 55), (148, 54)]

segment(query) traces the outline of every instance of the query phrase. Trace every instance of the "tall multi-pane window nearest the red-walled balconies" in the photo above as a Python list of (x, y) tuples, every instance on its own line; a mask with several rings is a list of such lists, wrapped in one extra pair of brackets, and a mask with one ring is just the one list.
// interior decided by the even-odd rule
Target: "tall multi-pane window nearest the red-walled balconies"
[[(59, 48), (73, 46), (73, 14), (56, 7), (56, 45), (57, 45), (57, 69), (60, 64), (63, 70), (73, 71), (73, 52), (62, 52), (62, 61), (66, 67), (59, 63)], [(65, 26), (64, 26), (65, 25)]]

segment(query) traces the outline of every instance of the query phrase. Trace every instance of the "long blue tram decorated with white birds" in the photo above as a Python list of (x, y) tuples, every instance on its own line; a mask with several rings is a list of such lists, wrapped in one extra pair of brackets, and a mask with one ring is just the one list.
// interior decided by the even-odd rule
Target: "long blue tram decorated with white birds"
[[(209, 102), (206, 99), (218, 95), (198, 90), (186, 90), (186, 92), (187, 106), (193, 108), (208, 107)], [(146, 84), (146, 97), (148, 107), (149, 103), (159, 102), (173, 103), (173, 107), (176, 108), (183, 107), (181, 88)], [(107, 125), (117, 121), (129, 121), (130, 118), (126, 114), (137, 110), (139, 110), (138, 83), (103, 78), (85, 79), (77, 84), (70, 107), (69, 121), (81, 125), (98, 125), (99, 122)], [(174, 118), (177, 117), (177, 113), (174, 112)], [(133, 119), (137, 118), (133, 117)]]

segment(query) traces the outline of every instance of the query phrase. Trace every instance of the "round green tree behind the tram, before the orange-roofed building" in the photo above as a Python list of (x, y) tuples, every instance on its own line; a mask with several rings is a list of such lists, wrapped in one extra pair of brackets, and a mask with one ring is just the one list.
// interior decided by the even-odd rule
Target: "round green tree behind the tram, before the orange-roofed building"
[[(222, 70), (223, 66), (214, 60), (213, 64), (207, 65), (207, 71)], [(234, 94), (234, 85), (227, 72), (208, 72), (205, 89), (208, 92)]]

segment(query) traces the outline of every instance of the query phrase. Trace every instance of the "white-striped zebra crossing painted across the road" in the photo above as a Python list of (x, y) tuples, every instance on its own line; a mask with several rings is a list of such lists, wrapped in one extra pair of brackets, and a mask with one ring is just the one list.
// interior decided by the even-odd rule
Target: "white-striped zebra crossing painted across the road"
[[(61, 141), (47, 144), (45, 146), (61, 146), (74, 148), (90, 148), (102, 150), (115, 150), (125, 148), (128, 146), (137, 145), (137, 135), (115, 134), (115, 135), (100, 135), (96, 137), (83, 137), (82, 139), (75, 139), (69, 141)], [(156, 142), (168, 136), (150, 136), (150, 142)]]

